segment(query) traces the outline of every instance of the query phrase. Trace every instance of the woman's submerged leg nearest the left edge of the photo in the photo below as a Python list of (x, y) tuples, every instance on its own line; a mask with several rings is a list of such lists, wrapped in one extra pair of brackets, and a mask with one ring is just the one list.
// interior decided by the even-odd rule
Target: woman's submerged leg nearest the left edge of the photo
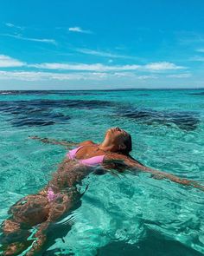
[(30, 227), (47, 220), (48, 212), (48, 200), (38, 194), (24, 197), (10, 207), (11, 216), (1, 226), (3, 255), (16, 255), (30, 246)]

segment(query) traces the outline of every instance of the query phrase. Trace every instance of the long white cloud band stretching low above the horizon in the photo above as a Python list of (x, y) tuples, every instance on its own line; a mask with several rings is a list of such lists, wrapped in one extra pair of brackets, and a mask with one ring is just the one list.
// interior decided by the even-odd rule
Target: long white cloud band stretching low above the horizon
[[(103, 81), (107, 79), (131, 79), (134, 80), (147, 80), (156, 79), (156, 75), (150, 74), (150, 72), (159, 72), (160, 70), (175, 70), (184, 69), (184, 67), (176, 66), (170, 62), (151, 62), (146, 65), (105, 65), (102, 63), (86, 64), (86, 63), (34, 63), (28, 64), (21, 62), (10, 56), (0, 55), (0, 67), (25, 67), (35, 68), (35, 70), (13, 70), (3, 71), (0, 70), (0, 80), (17, 80), (17, 81)], [(55, 71), (43, 71), (41, 69), (55, 70)], [(56, 70), (67, 70), (63, 71)], [(142, 74), (143, 72), (143, 74)], [(149, 74), (148, 74), (149, 72)], [(189, 72), (183, 74), (172, 74), (166, 77), (175, 78), (187, 78), (190, 77)]]

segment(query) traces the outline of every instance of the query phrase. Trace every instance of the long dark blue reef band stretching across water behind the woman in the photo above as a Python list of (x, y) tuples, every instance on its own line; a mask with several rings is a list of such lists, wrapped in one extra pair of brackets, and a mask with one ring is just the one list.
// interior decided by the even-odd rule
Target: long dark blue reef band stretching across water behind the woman
[(157, 111), (146, 108), (133, 108), (131, 104), (97, 100), (32, 100), (0, 102), (0, 112), (11, 115), (10, 122), (16, 127), (45, 126), (67, 123), (70, 116), (61, 109), (108, 109), (119, 117), (146, 125), (163, 125), (191, 131), (200, 123), (199, 115), (188, 111)]

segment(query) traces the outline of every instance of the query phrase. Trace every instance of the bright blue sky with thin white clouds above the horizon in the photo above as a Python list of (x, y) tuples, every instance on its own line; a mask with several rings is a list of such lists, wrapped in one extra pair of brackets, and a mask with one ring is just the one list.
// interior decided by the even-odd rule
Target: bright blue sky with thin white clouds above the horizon
[(0, 90), (204, 88), (203, 0), (0, 1)]

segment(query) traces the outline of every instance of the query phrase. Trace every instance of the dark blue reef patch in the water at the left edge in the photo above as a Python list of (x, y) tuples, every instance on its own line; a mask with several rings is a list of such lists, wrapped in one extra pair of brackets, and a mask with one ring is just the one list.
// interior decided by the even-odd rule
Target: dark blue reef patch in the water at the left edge
[(68, 115), (57, 112), (61, 108), (94, 109), (115, 107), (114, 102), (82, 100), (33, 100), (0, 102), (0, 112), (12, 115), (10, 122), (16, 127), (45, 126), (67, 123)]

